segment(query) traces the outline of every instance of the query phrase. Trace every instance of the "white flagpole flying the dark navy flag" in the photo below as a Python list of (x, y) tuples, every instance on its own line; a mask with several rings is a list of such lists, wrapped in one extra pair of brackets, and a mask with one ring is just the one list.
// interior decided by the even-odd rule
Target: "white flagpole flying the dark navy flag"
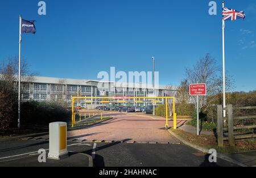
[(19, 15), (19, 94), (18, 94), (18, 128), (20, 128), (20, 54), (22, 42), (22, 16)]

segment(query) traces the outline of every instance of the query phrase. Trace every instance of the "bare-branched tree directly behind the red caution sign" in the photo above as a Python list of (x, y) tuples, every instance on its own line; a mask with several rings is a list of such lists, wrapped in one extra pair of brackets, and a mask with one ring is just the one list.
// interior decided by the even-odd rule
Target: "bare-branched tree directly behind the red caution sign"
[[(206, 54), (195, 66), (186, 69), (188, 84), (205, 83), (207, 85), (207, 95), (199, 98), (199, 111), (206, 111), (208, 107), (222, 94), (222, 74), (221, 69), (216, 65), (216, 60)], [(227, 91), (232, 88), (233, 80), (230, 75), (226, 75)], [(191, 97), (193, 103), (196, 103), (196, 97)]]

